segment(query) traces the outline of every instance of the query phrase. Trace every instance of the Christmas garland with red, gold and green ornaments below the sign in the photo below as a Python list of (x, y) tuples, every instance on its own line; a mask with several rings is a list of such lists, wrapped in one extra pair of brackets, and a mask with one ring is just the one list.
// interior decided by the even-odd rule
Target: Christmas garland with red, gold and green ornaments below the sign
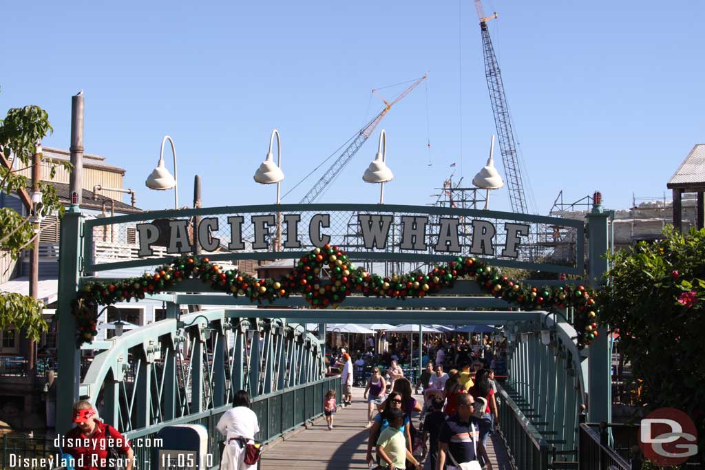
[[(322, 283), (321, 270), (329, 268), (330, 282)], [(448, 264), (434, 267), (429, 273), (412, 272), (383, 278), (363, 268), (355, 268), (348, 255), (338, 247), (325, 245), (303, 256), (297, 266), (278, 279), (257, 279), (237, 269), (225, 269), (208, 258), (180, 256), (157, 268), (154, 273), (115, 283), (90, 281), (82, 285), (74, 302), (78, 344), (92, 342), (97, 335), (97, 307), (130, 299), (144, 299), (158, 294), (181, 280), (199, 278), (214, 290), (233, 297), (244, 296), (250, 302), (273, 303), (279, 298), (300, 294), (314, 309), (337, 308), (348, 295), (365, 297), (425, 297), (453, 285), (459, 278), (472, 278), (485, 292), (517, 305), (523, 310), (556, 311), (575, 309), (573, 326), (577, 345), (589, 345), (597, 336), (599, 305), (596, 296), (582, 285), (534, 287), (502, 276), (501, 271), (470, 256), (458, 256)]]

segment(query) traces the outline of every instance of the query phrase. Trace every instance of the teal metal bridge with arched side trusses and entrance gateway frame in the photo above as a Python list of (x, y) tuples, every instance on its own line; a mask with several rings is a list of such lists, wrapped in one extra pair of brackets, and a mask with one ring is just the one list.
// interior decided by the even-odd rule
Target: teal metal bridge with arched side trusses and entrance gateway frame
[[(84, 345), (84, 349), (99, 350), (99, 354), (81, 376), (78, 366), (80, 350), (73, 347), (76, 323), (72, 302), (78, 288), (96, 279), (114, 279), (117, 283), (120, 276), (116, 278), (116, 273), (120, 270), (149, 270), (176, 256), (165, 256), (159, 250), (154, 250), (152, 256), (123, 256), (123, 245), (130, 245), (130, 242), (140, 245), (140, 240), (129, 239), (137, 224), (165, 218), (189, 218), (190, 221), (196, 216), (201, 220), (208, 216), (216, 218), (219, 223), (214, 223), (208, 241), (221, 241), (214, 249), (202, 252), (202, 256), (233, 264), (243, 259), (296, 259), (317, 246), (317, 240), (314, 240), (317, 237), (311, 236), (307, 240), (308, 237), (302, 236), (297, 247), (287, 248), (285, 242), (282, 251), (271, 252), (266, 247), (258, 248), (257, 243), (262, 240), (258, 240), (254, 231), (248, 232), (250, 228), (244, 225), (245, 248), (239, 251), (228, 249), (225, 240), (228, 239), (231, 217), (267, 217), (267, 214), (276, 213), (283, 214), (283, 220), (288, 214), (295, 214), (299, 225), (304, 227), (320, 220), (314, 219), (315, 216), (329, 214), (329, 220), (324, 223), (326, 234), (330, 236), (326, 242), (341, 247), (345, 247), (350, 221), (355, 221), (357, 215), (391, 216), (391, 225), (399, 227), (403, 226), (400, 223), (403, 216), (428, 217), (432, 221), (429, 228), (439, 224), (437, 221), (441, 218), (489, 221), (496, 228), (497, 247), (505, 244), (508, 236), (507, 226), (501, 225), (501, 221), (525, 223), (532, 233), (559, 226), (575, 235), (577, 256), (572, 261), (523, 260), (521, 250), (511, 257), (505, 256), (499, 248), (481, 258), (498, 266), (574, 276), (587, 274), (587, 278), (583, 278), (586, 285), (591, 284), (591, 279), (599, 278), (606, 268), (601, 255), (608, 247), (607, 221), (606, 214), (599, 207), (588, 217), (587, 227), (582, 221), (528, 214), (376, 204), (228, 206), (130, 214), (91, 221), (82, 218), (80, 211), (69, 210), (61, 229), (57, 311), (61, 323), (58, 431), (66, 431), (70, 426), (71, 404), (79, 397), (86, 397), (97, 406), (106, 422), (130, 438), (152, 436), (160, 428), (173, 424), (202, 423), (207, 426), (212, 441), (210, 450), (215, 450), (215, 423), (231, 407), (234, 393), (244, 388), (255, 397), (253, 409), (262, 428), (258, 437), (262, 440), (275, 438), (320, 414), (324, 390), (339, 390), (340, 387), (339, 378), (325, 377), (322, 341), (325, 328), (319, 328), (317, 337), (302, 327), (307, 322), (322, 326), (327, 322), (379, 321), (503, 326), (509, 347), (508, 380), (500, 400), (501, 419), (503, 435), (518, 468), (545, 468), (529, 462), (558, 461), (569, 458), (562, 456), (577, 452), (580, 414), (587, 411), (591, 421), (609, 421), (610, 369), (606, 335), (600, 335), (592, 345), (579, 350), (571, 309), (519, 311), (503, 299), (484, 295), (471, 280), (459, 280), (439, 295), (405, 300), (350, 295), (340, 309), (333, 310), (311, 309), (309, 299), (302, 295), (290, 295), (277, 299), (276, 304), (267, 308), (257, 308), (247, 297), (233, 297), (214, 290), (208, 283), (185, 279), (158, 295), (146, 293), (146, 297), (164, 302), (166, 319), (109, 341)], [(118, 234), (112, 253), (97, 252), (94, 242), (106, 227), (111, 233)], [(290, 225), (285, 229), (282, 232), (284, 240), (288, 238)], [(200, 232), (197, 226), (189, 230), (190, 240), (193, 240), (194, 233)], [(589, 235), (587, 259), (583, 253), (586, 230)], [(270, 233), (271, 230), (262, 230), (265, 242)], [(474, 249), (472, 236), (472, 233), (458, 233), (458, 249), (462, 254)], [(375, 261), (400, 264), (448, 261), (451, 256), (448, 252), (428, 248), (439, 240), (438, 233), (429, 229), (423, 238), (427, 248), (420, 251), (405, 247), (403, 236), (397, 233), (387, 237), (384, 246), (360, 245), (358, 240), (357, 245), (346, 247), (346, 251), (351, 260), (369, 262), (372, 266)], [(134, 254), (135, 248), (125, 248), (125, 252)], [(98, 277), (97, 273), (102, 276)], [(317, 282), (323, 286), (331, 281), (321, 276)], [(547, 284), (563, 285), (565, 281), (537, 281), (537, 285)], [(181, 315), (183, 305), (198, 305), (204, 310)], [(140, 450), (138, 459), (148, 462), (146, 452)], [(145, 466), (149, 468), (148, 464)]]

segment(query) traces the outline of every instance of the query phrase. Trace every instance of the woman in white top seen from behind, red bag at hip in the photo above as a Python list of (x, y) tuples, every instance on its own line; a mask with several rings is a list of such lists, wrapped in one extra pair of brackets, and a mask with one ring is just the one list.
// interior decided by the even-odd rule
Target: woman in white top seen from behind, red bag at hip
[(257, 415), (250, 409), (250, 394), (245, 390), (237, 392), (235, 400), (233, 400), (233, 408), (223, 414), (216, 428), (225, 436), (226, 440), (221, 458), (221, 469), (257, 469), (257, 464), (245, 464), (244, 443), (255, 443), (255, 434), (259, 433)]

